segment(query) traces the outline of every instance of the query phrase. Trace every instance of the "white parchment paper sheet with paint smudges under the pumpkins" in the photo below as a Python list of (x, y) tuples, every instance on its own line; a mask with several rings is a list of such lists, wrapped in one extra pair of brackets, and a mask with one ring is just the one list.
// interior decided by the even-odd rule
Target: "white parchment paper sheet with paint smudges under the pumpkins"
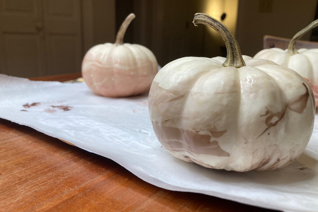
[(161, 188), (270, 209), (318, 211), (318, 117), (297, 161), (274, 171), (244, 173), (204, 168), (170, 155), (153, 132), (147, 95), (106, 98), (93, 94), (85, 83), (0, 74), (0, 118), (110, 158)]

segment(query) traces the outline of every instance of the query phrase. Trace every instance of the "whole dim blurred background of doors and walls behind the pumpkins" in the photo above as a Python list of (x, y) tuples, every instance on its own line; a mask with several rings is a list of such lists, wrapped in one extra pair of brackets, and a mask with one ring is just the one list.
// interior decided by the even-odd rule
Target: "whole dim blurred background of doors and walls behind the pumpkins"
[[(130, 12), (136, 18), (124, 42), (148, 47), (161, 66), (185, 56), (226, 56), (216, 31), (192, 24), (197, 12), (227, 25), (249, 56), (262, 49), (264, 35), (292, 38), (318, 18), (317, 0), (0, 0), (0, 73), (80, 72), (85, 52), (114, 43)], [(302, 39), (318, 41), (317, 31)]]

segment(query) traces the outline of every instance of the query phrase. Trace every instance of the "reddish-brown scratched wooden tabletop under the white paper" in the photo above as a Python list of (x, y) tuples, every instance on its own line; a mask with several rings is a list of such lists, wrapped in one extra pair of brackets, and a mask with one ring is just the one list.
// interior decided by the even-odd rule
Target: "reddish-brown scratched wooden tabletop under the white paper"
[[(78, 77), (79, 73), (36, 80)], [(156, 187), (110, 159), (0, 119), (0, 211), (44, 210), (272, 211)]]

